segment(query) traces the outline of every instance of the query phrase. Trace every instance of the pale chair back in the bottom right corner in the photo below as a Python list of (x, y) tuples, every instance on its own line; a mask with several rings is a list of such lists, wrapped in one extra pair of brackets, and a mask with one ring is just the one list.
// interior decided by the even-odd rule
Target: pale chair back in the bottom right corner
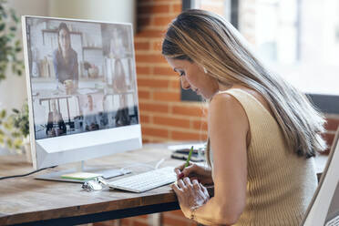
[(339, 226), (339, 128), (301, 226)]

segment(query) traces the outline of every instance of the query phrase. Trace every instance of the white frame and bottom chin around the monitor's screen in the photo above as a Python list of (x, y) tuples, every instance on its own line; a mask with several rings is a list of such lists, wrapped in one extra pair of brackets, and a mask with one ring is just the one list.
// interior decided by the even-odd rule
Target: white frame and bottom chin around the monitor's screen
[[(27, 102), (29, 109), (29, 136), (31, 145), (31, 155), (33, 167), (36, 170), (46, 167), (56, 166), (59, 164), (66, 164), (69, 162), (76, 162), (86, 159), (93, 159), (118, 152), (128, 151), (132, 149), (142, 148), (141, 139), (141, 126), (140, 124), (129, 125), (118, 128), (107, 128), (96, 131), (88, 131), (79, 134), (72, 134), (62, 137), (55, 137), (50, 139), (36, 139), (34, 113), (33, 113), (33, 99), (32, 99), (32, 87), (31, 87), (31, 72), (29, 68), (28, 59), (28, 46), (26, 37), (26, 18), (41, 18), (41, 19), (54, 19), (61, 21), (74, 21), (74, 22), (89, 22), (89, 23), (103, 23), (114, 25), (126, 25), (129, 26), (131, 31), (132, 45), (134, 46), (133, 26), (130, 23), (112, 23), (98, 20), (83, 20), (73, 18), (58, 18), (49, 16), (37, 16), (37, 15), (22, 15), (22, 29), (23, 29), (23, 46), (24, 46), (24, 58), (26, 67), (26, 87), (27, 87)], [(132, 48), (133, 54), (133, 70), (136, 75), (136, 63), (135, 63), (135, 49)], [(138, 85), (136, 83), (136, 97), (138, 108), (138, 122), (139, 117), (139, 99), (138, 99)], [(72, 143), (69, 143), (70, 140)], [(86, 140), (86, 142), (84, 142)], [(106, 141), (107, 140), (107, 141)], [(78, 148), (74, 146), (78, 145)], [(57, 146), (56, 146), (57, 145)], [(112, 147), (114, 146), (114, 149)], [(48, 147), (57, 147), (48, 148)], [(100, 151), (93, 151), (93, 149), (100, 149)]]

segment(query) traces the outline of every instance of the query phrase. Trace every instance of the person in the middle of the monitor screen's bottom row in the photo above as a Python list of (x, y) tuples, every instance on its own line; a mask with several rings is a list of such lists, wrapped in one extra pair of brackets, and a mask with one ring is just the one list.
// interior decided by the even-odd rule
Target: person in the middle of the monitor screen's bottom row
[(87, 95), (87, 108), (84, 112), (84, 129), (86, 131), (98, 130), (100, 118), (94, 110), (93, 98)]

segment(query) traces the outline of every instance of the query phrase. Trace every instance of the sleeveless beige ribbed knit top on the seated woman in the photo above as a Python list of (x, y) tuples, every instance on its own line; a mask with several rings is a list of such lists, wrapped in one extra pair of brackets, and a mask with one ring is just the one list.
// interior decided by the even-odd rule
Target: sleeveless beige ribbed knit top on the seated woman
[(287, 147), (279, 124), (258, 99), (238, 88), (222, 93), (241, 103), (251, 129), (246, 206), (235, 225), (299, 225), (317, 186), (314, 159)]

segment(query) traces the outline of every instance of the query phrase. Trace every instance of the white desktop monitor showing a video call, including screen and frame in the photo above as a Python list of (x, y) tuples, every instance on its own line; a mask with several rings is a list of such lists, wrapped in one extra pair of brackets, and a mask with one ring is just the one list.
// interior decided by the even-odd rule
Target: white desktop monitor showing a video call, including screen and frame
[(22, 17), (36, 169), (142, 146), (132, 26)]

